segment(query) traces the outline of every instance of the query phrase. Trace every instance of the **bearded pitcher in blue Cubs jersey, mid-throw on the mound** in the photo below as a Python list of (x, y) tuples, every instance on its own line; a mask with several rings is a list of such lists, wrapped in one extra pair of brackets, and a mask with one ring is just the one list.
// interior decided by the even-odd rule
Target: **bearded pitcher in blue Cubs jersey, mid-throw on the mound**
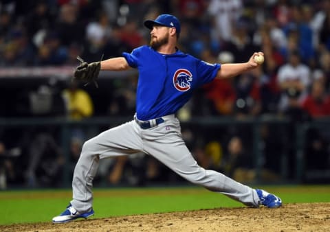
[(74, 170), (73, 199), (52, 221), (63, 223), (94, 215), (92, 186), (98, 163), (136, 152), (154, 156), (191, 183), (250, 207), (280, 207), (282, 201), (274, 194), (252, 189), (219, 172), (200, 167), (186, 147), (175, 117), (196, 88), (214, 78), (232, 78), (258, 67), (260, 64), (254, 57), (263, 56), (263, 53), (255, 52), (245, 63), (210, 64), (177, 49), (180, 23), (175, 16), (161, 14), (153, 21), (145, 21), (144, 25), (151, 30), (150, 45), (137, 47), (130, 54), (124, 52), (122, 57), (89, 64), (80, 58), (74, 78), (87, 83), (96, 82), (100, 70), (137, 69), (136, 113), (131, 121), (84, 143)]

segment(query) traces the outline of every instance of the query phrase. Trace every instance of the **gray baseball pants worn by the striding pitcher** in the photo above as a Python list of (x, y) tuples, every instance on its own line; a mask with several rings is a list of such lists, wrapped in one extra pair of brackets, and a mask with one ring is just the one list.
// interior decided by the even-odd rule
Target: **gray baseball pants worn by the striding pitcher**
[(93, 204), (93, 179), (100, 159), (136, 152), (150, 154), (191, 183), (212, 192), (225, 194), (245, 205), (257, 207), (259, 197), (251, 187), (242, 185), (213, 170), (197, 164), (181, 137), (179, 120), (174, 115), (162, 117), (164, 122), (142, 129), (135, 120), (106, 130), (83, 145), (72, 181), (73, 200), (77, 211), (89, 211)]

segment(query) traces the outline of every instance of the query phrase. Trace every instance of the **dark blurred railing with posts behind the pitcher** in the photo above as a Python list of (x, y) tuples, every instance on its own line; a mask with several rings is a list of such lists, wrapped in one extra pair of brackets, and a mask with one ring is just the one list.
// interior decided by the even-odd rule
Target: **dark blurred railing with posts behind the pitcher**
[[(65, 161), (69, 160), (69, 139), (70, 130), (75, 126), (82, 126), (83, 128), (96, 128), (98, 126), (106, 126), (107, 128), (117, 126), (125, 121), (131, 120), (132, 117), (94, 117), (91, 119), (85, 119), (82, 121), (70, 121), (63, 118), (0, 118), (0, 128), (10, 129), (26, 128), (29, 126), (54, 126), (61, 131), (61, 148), (63, 148), (63, 154)], [(208, 131), (217, 132), (221, 135), (221, 128), (230, 129), (231, 127), (248, 128), (250, 134), (250, 141), (252, 144), (252, 159), (254, 160), (254, 170), (256, 172), (256, 183), (261, 183), (261, 170), (263, 169), (263, 126), (274, 126), (275, 128), (281, 128), (281, 137), (277, 139), (281, 140), (280, 144), (283, 147), (278, 148), (278, 165), (280, 165), (280, 175), (282, 181), (289, 181), (289, 170), (295, 170), (294, 176), (291, 181), (294, 183), (302, 183), (304, 181), (305, 173), (305, 153), (306, 153), (306, 138), (307, 132), (310, 128), (317, 128), (320, 130), (329, 130), (330, 119), (323, 119), (318, 121), (309, 121), (303, 123), (294, 124), (294, 137), (286, 137), (289, 133), (289, 127), (292, 126), (292, 122), (285, 118), (279, 117), (257, 117), (257, 118), (245, 118), (245, 119), (233, 119), (229, 117), (192, 117), (188, 121), (181, 121), (182, 128), (190, 128), (194, 132), (199, 132), (201, 135), (207, 135)], [(214, 131), (215, 130), (215, 131)], [(329, 141), (328, 141), (329, 144)], [(289, 166), (289, 154), (288, 149), (285, 146), (294, 148), (295, 152), (295, 165)], [(66, 162), (67, 163), (67, 162)], [(330, 169), (330, 167), (329, 167)], [(69, 186), (71, 184), (72, 176), (70, 176), (69, 167), (65, 165), (63, 170), (63, 185)]]

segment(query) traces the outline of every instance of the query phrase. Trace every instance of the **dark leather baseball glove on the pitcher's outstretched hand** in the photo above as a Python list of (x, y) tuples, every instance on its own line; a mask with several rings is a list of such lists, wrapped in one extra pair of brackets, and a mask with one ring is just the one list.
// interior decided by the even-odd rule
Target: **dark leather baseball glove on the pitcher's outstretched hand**
[(96, 80), (98, 79), (98, 73), (100, 73), (102, 58), (98, 62), (87, 63), (83, 60), (83, 58), (77, 56), (77, 59), (80, 61), (80, 65), (76, 67), (74, 71), (73, 80), (87, 82), (85, 86), (90, 82), (94, 82), (94, 84), (98, 88), (98, 83), (96, 82)]

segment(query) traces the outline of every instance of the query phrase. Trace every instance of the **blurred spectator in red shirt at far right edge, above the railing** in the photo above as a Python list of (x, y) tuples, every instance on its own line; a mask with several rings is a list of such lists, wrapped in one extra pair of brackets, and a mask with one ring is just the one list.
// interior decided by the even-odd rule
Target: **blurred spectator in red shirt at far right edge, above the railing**
[(313, 82), (311, 93), (303, 101), (302, 107), (314, 119), (330, 116), (330, 95), (325, 92), (321, 80)]

